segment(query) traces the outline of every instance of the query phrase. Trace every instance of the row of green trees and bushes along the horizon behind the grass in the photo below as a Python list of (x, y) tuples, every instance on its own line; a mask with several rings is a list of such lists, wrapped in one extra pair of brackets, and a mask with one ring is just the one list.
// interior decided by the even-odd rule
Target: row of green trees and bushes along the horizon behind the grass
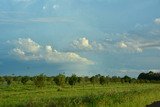
[(8, 86), (16, 82), (19, 84), (26, 85), (27, 82), (32, 82), (36, 87), (44, 87), (46, 83), (56, 84), (57, 86), (64, 87), (65, 85), (74, 86), (76, 84), (95, 84), (106, 85), (109, 83), (148, 83), (148, 82), (160, 82), (160, 73), (140, 73), (138, 78), (131, 78), (129, 76), (119, 77), (119, 76), (103, 76), (100, 74), (94, 76), (84, 76), (80, 77), (75, 74), (71, 76), (65, 76), (64, 74), (59, 74), (57, 76), (46, 76), (40, 74), (37, 76), (0, 76), (0, 84), (7, 84)]

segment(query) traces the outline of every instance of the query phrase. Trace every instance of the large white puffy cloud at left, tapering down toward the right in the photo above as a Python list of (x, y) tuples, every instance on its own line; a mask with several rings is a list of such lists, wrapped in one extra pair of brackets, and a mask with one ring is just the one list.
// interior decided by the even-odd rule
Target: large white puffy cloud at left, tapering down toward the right
[(22, 60), (45, 60), (49, 63), (82, 63), (94, 64), (91, 60), (73, 52), (59, 52), (50, 45), (40, 46), (32, 39), (16, 40), (12, 53)]

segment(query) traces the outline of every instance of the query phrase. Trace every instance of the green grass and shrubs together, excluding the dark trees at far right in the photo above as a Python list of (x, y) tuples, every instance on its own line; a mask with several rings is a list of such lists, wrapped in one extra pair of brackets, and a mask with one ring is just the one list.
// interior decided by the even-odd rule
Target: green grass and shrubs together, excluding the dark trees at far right
[[(154, 83), (153, 83), (154, 82)], [(158, 81), (128, 76), (4, 76), (0, 107), (145, 107), (160, 100)]]

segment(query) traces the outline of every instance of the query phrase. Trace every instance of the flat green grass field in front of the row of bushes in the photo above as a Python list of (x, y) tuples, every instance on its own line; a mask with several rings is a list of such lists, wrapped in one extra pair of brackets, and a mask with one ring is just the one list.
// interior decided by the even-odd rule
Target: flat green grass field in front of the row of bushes
[(160, 84), (0, 85), (0, 107), (145, 107), (160, 100)]

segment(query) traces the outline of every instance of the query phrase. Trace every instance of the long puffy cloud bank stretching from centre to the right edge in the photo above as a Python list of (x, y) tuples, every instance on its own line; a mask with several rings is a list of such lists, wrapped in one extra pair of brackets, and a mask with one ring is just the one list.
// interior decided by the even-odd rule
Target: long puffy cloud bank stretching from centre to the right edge
[[(120, 36), (121, 37), (121, 36)], [(86, 37), (74, 40), (71, 44), (75, 51), (94, 52), (127, 52), (141, 53), (147, 49), (160, 49), (160, 40), (146, 40), (124, 36), (115, 40), (106, 39), (101, 42), (90, 41)]]

